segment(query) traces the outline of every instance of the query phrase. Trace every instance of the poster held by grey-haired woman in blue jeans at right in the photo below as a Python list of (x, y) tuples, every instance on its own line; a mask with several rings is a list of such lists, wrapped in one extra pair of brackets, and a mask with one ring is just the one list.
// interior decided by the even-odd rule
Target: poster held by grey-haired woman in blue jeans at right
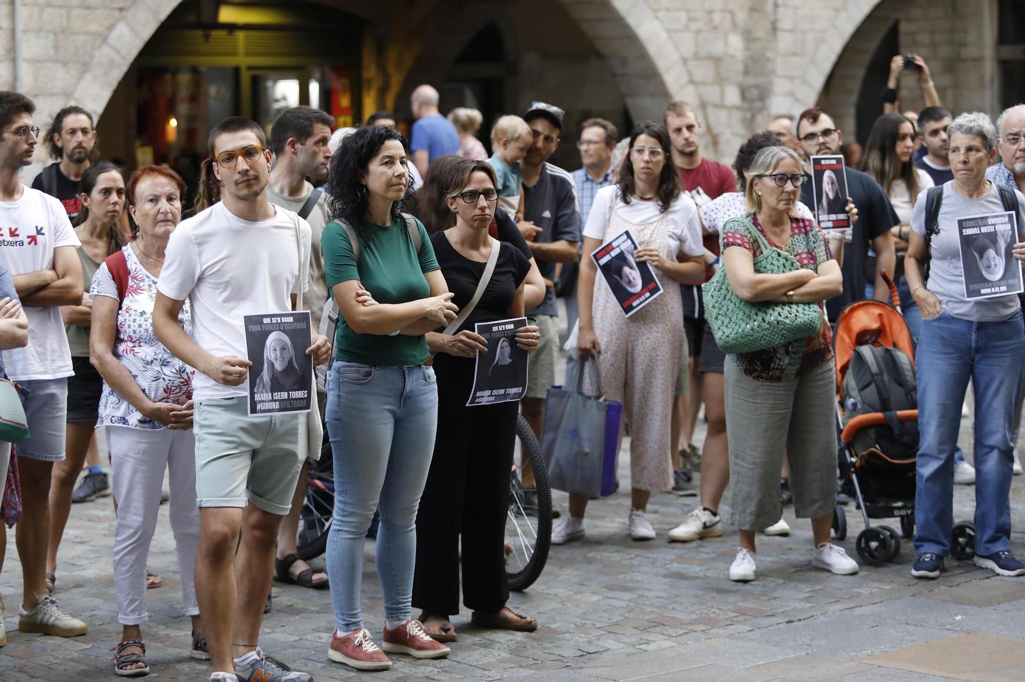
[(1021, 263), (1011, 255), (1016, 235), (1017, 216), (1010, 211), (957, 219), (965, 298), (1022, 292)]

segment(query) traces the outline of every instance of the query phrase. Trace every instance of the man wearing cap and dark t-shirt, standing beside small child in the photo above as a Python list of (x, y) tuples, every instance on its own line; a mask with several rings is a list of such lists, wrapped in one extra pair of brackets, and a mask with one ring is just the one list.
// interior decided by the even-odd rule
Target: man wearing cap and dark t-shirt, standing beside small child
[[(559, 309), (556, 306), (556, 263), (576, 260), (580, 242), (580, 203), (576, 184), (568, 172), (547, 163), (559, 146), (565, 112), (543, 101), (535, 101), (524, 114), (524, 120), (534, 134), (534, 143), (521, 161), (526, 207), (519, 223), (537, 267), (544, 278), (544, 300), (527, 316), (533, 317), (541, 330), (541, 342), (530, 354), (526, 396), (521, 401), (523, 416), (541, 438), (544, 424), (544, 398), (548, 386), (556, 383), (556, 363), (559, 359)], [(524, 487), (534, 485), (529, 462), (523, 466)]]

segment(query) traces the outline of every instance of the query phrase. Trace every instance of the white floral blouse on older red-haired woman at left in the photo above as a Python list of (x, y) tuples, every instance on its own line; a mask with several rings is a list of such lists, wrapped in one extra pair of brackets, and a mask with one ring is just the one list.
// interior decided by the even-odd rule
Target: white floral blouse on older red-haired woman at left
[[(114, 356), (125, 366), (135, 383), (154, 402), (184, 404), (192, 399), (192, 380), (196, 370), (174, 356), (157, 340), (153, 332), (153, 303), (157, 298), (157, 279), (142, 267), (131, 245), (122, 249), (128, 262), (128, 286), (118, 310), (118, 332), (114, 340)], [(118, 287), (107, 263), (100, 263), (92, 278), (89, 296), (110, 296), (118, 299)], [(178, 323), (192, 336), (192, 314), (186, 300), (178, 313)], [(130, 426), (157, 430), (166, 428), (160, 422), (144, 417), (130, 402), (114, 392), (104, 382), (99, 397), (97, 426)]]

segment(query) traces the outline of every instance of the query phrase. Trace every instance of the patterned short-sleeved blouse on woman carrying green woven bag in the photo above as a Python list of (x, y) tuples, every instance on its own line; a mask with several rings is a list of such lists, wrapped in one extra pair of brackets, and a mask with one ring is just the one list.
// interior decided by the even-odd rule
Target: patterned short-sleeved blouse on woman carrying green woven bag
[[(766, 241), (778, 249), (782, 249), (797, 259), (802, 267), (818, 271), (819, 265), (832, 259), (829, 244), (825, 235), (814, 220), (790, 215), (790, 239), (785, 247), (774, 243), (758, 223), (753, 214), (747, 216), (754, 229), (762, 232)], [(730, 220), (723, 226), (723, 250), (727, 247), (747, 249), (751, 255), (762, 254), (762, 246), (750, 226), (741, 220)], [(818, 334), (804, 339), (788, 341), (775, 348), (756, 350), (750, 353), (737, 353), (733, 361), (744, 374), (757, 381), (793, 381), (797, 377), (814, 370), (832, 358), (832, 334), (826, 322), (825, 304), (819, 303), (822, 310), (822, 325)]]

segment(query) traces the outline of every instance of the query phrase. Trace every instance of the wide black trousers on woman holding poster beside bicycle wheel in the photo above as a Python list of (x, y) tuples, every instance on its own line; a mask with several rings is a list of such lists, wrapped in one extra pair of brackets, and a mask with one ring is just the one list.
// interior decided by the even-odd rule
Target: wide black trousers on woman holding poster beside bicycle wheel
[(459, 612), (459, 536), (466, 608), (497, 611), (508, 601), (505, 520), (519, 402), (467, 408), (474, 359), (439, 354), (438, 434), (416, 515), (413, 606)]

